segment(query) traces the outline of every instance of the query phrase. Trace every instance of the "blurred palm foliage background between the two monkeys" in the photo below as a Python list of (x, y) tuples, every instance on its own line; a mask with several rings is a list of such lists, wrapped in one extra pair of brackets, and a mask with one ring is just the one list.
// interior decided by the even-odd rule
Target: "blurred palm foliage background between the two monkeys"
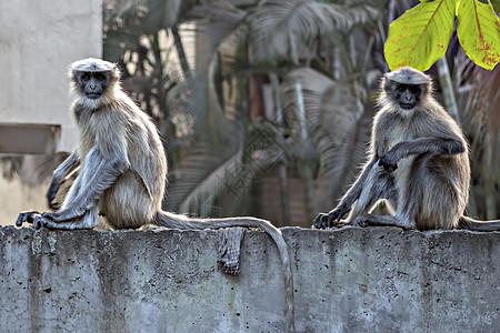
[[(412, 4), (104, 1), (104, 58), (121, 64), (124, 87), (166, 141), (166, 209), (306, 226), (330, 210), (364, 161), (388, 26)], [(450, 54), (453, 64), (457, 49)], [(459, 67), (452, 70), (453, 79), (463, 78)], [(451, 84), (451, 91), (479, 87), (473, 75)], [(464, 110), (469, 91), (458, 94)], [(478, 138), (486, 137), (474, 129), (482, 133), (471, 137), (480, 152), (486, 141)], [(488, 165), (496, 159), (490, 152)], [(294, 179), (300, 195), (291, 190)], [(474, 189), (483, 182), (476, 180)], [(493, 184), (498, 191), (498, 179)], [(482, 216), (477, 202), (484, 192), (476, 192), (472, 211)], [(281, 206), (263, 210), (276, 196)]]

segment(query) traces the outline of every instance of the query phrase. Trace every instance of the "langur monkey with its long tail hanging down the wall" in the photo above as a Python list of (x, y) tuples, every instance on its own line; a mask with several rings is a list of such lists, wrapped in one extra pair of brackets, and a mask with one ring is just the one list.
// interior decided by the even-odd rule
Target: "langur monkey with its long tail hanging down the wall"
[(102, 214), (112, 229), (147, 224), (181, 230), (260, 228), (278, 246), (284, 274), (284, 322), (287, 331), (294, 331), (291, 268), (281, 232), (254, 218), (191, 219), (162, 211), (167, 158), (160, 135), (149, 117), (121, 89), (117, 65), (84, 59), (70, 65), (69, 79), (80, 144), (53, 172), (47, 193), (49, 206), (56, 206), (53, 200), (63, 179), (78, 167), (79, 174), (58, 211), (23, 212), (16, 224), (92, 229)]

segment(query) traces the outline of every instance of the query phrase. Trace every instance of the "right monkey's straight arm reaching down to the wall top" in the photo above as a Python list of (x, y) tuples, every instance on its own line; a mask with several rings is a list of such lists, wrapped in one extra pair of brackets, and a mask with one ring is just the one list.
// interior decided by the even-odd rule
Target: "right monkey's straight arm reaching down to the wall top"
[(361, 191), (364, 186), (367, 179), (370, 175), (371, 170), (373, 169), (373, 165), (378, 161), (379, 159), (376, 155), (370, 160), (370, 162), (368, 162), (368, 164), (364, 167), (363, 171), (358, 176), (356, 182), (340, 200), (340, 203), (337, 205), (337, 208), (331, 210), (329, 213), (319, 213), (318, 216), (316, 216), (313, 224), (314, 228), (317, 229), (331, 228), (333, 221), (337, 222), (340, 221), (340, 219), (342, 219), (342, 216), (346, 215), (351, 210), (351, 206), (359, 199), (359, 195), (361, 194)]

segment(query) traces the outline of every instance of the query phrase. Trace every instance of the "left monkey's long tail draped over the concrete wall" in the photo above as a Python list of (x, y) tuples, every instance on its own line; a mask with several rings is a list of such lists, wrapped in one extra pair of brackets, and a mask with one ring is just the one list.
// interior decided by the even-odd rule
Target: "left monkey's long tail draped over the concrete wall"
[(256, 218), (226, 218), (226, 219), (192, 219), (180, 214), (161, 211), (154, 221), (156, 224), (179, 230), (222, 229), (232, 226), (259, 228), (267, 232), (274, 241), (281, 259), (284, 278), (284, 324), (286, 332), (296, 332), (293, 278), (291, 272), (288, 245), (281, 231), (266, 220)]

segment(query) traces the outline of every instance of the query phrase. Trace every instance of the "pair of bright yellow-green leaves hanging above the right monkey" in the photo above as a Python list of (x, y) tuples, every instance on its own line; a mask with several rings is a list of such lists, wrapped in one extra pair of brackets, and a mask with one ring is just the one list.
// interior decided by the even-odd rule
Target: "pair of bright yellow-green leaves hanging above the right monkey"
[(490, 2), (479, 0), (421, 1), (404, 12), (389, 29), (384, 48), (389, 68), (428, 70), (447, 52), (456, 17), (466, 54), (476, 64), (493, 69), (500, 61), (500, 20)]

